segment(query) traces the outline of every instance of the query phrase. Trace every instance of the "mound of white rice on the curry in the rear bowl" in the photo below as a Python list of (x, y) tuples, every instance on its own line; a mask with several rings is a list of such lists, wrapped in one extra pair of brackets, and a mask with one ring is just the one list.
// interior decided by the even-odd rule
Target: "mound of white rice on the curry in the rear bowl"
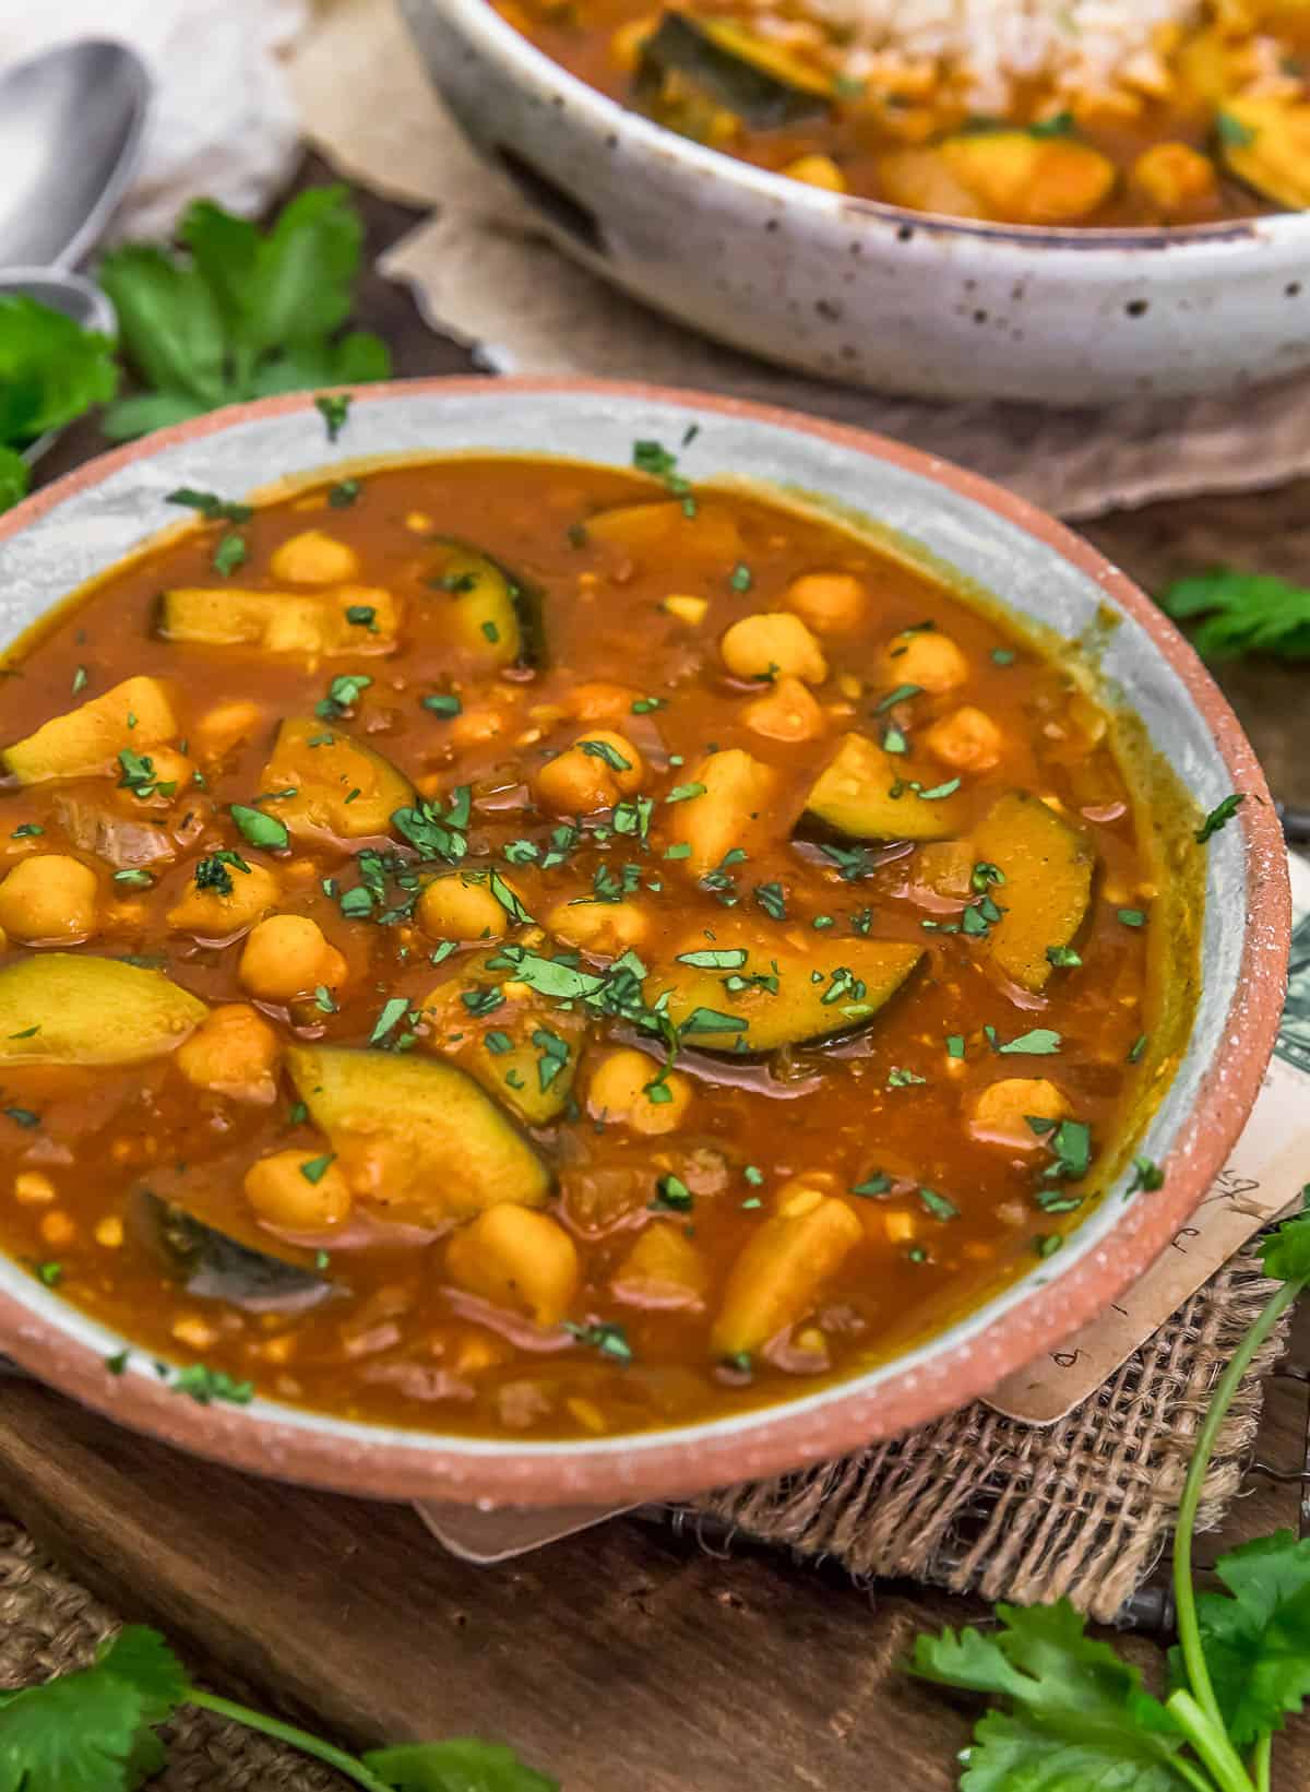
[[(767, 0), (765, 0), (767, 4)], [(848, 73), (894, 82), (930, 65), (980, 113), (1004, 113), (1014, 81), (1057, 95), (1125, 81), (1151, 91), (1165, 70), (1161, 25), (1192, 25), (1202, 0), (810, 0), (849, 30)]]

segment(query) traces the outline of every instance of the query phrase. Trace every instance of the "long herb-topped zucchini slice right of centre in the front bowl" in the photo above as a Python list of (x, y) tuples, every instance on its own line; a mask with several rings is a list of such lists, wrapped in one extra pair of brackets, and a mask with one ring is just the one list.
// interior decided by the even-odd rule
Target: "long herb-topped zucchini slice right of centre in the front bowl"
[(717, 928), (713, 952), (692, 950), (688, 957), (719, 962), (670, 968), (668, 1016), (685, 1043), (699, 1052), (756, 1057), (783, 1045), (821, 1045), (864, 1032), (916, 968), (923, 946), (833, 939), (797, 952), (758, 937), (733, 939)]

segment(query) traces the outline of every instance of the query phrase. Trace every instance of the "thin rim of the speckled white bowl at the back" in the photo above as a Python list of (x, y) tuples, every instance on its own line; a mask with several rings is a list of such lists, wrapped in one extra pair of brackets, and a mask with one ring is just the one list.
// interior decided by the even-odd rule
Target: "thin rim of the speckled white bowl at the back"
[[(412, 4), (412, 0), (410, 0)], [(796, 210), (840, 217), (851, 224), (883, 222), (903, 229), (907, 224), (925, 237), (968, 237), (982, 244), (1009, 244), (1025, 251), (1072, 249), (1091, 254), (1097, 249), (1118, 249), (1138, 256), (1149, 251), (1174, 251), (1183, 254), (1192, 249), (1199, 253), (1210, 247), (1240, 251), (1258, 249), (1267, 237), (1306, 238), (1310, 246), (1310, 213), (1306, 211), (1265, 211), (1247, 219), (1217, 219), (1210, 224), (1176, 224), (1163, 228), (1158, 224), (1093, 224), (1070, 228), (1057, 224), (995, 224), (986, 219), (953, 219), (941, 211), (912, 211), (909, 206), (892, 204), (889, 199), (867, 199), (860, 194), (830, 194), (824, 188), (810, 186), (805, 181), (792, 181), (785, 174), (774, 174), (753, 161), (742, 161), (722, 149), (708, 143), (695, 143), (679, 136), (667, 125), (647, 118), (643, 113), (622, 100), (611, 99), (599, 88), (590, 86), (581, 75), (572, 73), (545, 50), (538, 48), (530, 38), (514, 30), (509, 20), (491, 5), (491, 0), (421, 0), (423, 5), (441, 5), (457, 23), (468, 23), (478, 32), (484, 43), (504, 54), (511, 66), (521, 68), (536, 82), (563, 90), (573, 108), (591, 113), (597, 125), (615, 129), (622, 125), (645, 149), (661, 159), (685, 161), (697, 172), (728, 181), (728, 185), (745, 186), (765, 199), (781, 201)]]

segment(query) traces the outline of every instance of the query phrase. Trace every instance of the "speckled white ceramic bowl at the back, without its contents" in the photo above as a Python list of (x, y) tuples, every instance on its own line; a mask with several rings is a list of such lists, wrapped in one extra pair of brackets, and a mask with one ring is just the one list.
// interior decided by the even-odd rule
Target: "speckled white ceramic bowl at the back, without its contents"
[(928, 217), (665, 131), (487, 0), (400, 0), (432, 81), (568, 254), (767, 360), (932, 398), (1104, 405), (1310, 367), (1310, 213), (1183, 229)]

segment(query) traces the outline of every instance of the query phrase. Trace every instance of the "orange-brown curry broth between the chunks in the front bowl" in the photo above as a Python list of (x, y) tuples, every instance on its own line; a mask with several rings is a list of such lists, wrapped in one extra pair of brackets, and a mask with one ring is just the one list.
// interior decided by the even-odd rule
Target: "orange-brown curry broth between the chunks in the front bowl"
[[(647, 505), (638, 525), (620, 527), (611, 539), (577, 527), (634, 502)], [(346, 652), (315, 663), (305, 654), (159, 638), (161, 591), (208, 588), (231, 600), (235, 591), (294, 590), (271, 575), (269, 557), (306, 529), (353, 548), (355, 584), (394, 595), (400, 633), (392, 652)], [(434, 538), (446, 530), (541, 591), (539, 667), (480, 672), (477, 652), (452, 647), (457, 595), (428, 582), (443, 564)], [(211, 570), (211, 557), (231, 532), (246, 541), (247, 557), (224, 579)], [(745, 572), (735, 575), (735, 568)], [(719, 643), (740, 618), (781, 609), (789, 584), (814, 572), (853, 575), (862, 613), (819, 634), (828, 676), (808, 686), (817, 699), (812, 738), (771, 738), (749, 719), (769, 683), (729, 676)], [(670, 593), (702, 599), (702, 620), (663, 609)], [(928, 620), (934, 631), (896, 643), (900, 629)], [(957, 645), (964, 683), (878, 713), (878, 701), (905, 683), (898, 665), (907, 656), (891, 649), (928, 634)], [(565, 1317), (584, 1328), (582, 1337), (557, 1324), (534, 1326), (521, 1312), (521, 1288), (496, 1299), (452, 1288), (443, 1267), (450, 1224), (439, 1215), (453, 1183), (427, 1190), (432, 1215), (419, 1228), (389, 1224), (384, 1204), (360, 1197), (360, 1183), (351, 1215), (314, 1235), (287, 1235), (262, 1220), (244, 1193), (258, 1158), (294, 1150), (317, 1163), (333, 1152), (333, 1142), (296, 1104), (285, 1064), (274, 1066), (276, 1100), (263, 1104), (197, 1086), (179, 1072), (177, 1054), (129, 1068), (9, 1066), (0, 1093), (4, 1245), (34, 1272), (43, 1265), (61, 1296), (159, 1358), (226, 1371), (242, 1383), (238, 1398), (244, 1383), (253, 1383), (269, 1396), (351, 1417), (480, 1435), (590, 1435), (720, 1416), (805, 1392), (815, 1378), (855, 1373), (966, 1310), (984, 1288), (1030, 1265), (1034, 1251), (1054, 1247), (1070, 1219), (1043, 1211), (1036, 1201), (1041, 1172), (1052, 1163), (1050, 1136), (1011, 1143), (978, 1138), (970, 1116), (980, 1093), (1000, 1079), (1050, 1079), (1063, 1111), (1091, 1129), (1091, 1176), (1045, 1185), (1075, 1206), (1079, 1193), (1095, 1190), (1097, 1158), (1118, 1147), (1116, 1127), (1140, 1095), (1142, 1072), (1129, 1057), (1151, 1027), (1152, 1005), (1149, 919), (1120, 919), (1122, 909), (1149, 914), (1151, 871), (1104, 717), (1066, 672), (918, 570), (814, 513), (720, 491), (702, 493), (699, 514), (686, 518), (654, 480), (545, 461), (470, 459), (367, 471), (348, 507), (328, 507), (319, 487), (271, 502), (237, 529), (185, 529), (111, 572), (25, 643), (4, 685), (4, 738), (25, 737), (73, 708), (73, 688), (84, 702), (129, 676), (152, 676), (170, 681), (179, 735), (204, 778), (204, 788), (181, 783), (172, 799), (156, 796), (152, 803), (118, 788), (108, 772), (72, 783), (9, 781), (0, 810), (5, 866), (59, 853), (95, 873), (95, 932), (73, 952), (134, 955), (163, 966), (206, 1004), (249, 1004), (238, 973), (246, 941), (204, 943), (167, 921), (194, 887), (197, 860), (233, 849), (276, 873), (278, 907), (312, 918), (348, 966), (333, 991), (333, 1012), (310, 991), (294, 1002), (256, 1000), (278, 1050), (296, 1041), (366, 1048), (384, 1004), (405, 996), (410, 1016), (369, 1057), (396, 1043), (410, 1048), (401, 1055), (412, 1063), (443, 1061), (434, 1055), (443, 1045), (452, 1063), (468, 1064), (470, 1054), (480, 1054), (484, 1081), (495, 1090), (495, 1055), (484, 1036), (504, 1025), (507, 1007), (468, 1016), (455, 1045), (441, 1036), (437, 1020), (416, 1018), (434, 987), (466, 980), (461, 966), (473, 952), (489, 950), (487, 943), (448, 952), (434, 966), (437, 937), (403, 918), (389, 925), (348, 919), (339, 894), (324, 892), (323, 880), (337, 892), (358, 882), (351, 864), (358, 840), (292, 840), (290, 851), (274, 853), (247, 844), (229, 815), (229, 805), (256, 797), (276, 814), (280, 799), (265, 794), (263, 780), (271, 740), (281, 719), (312, 717), (340, 674), (364, 674), (373, 683), (344, 715), (324, 722), (323, 733), (367, 742), (430, 797), (450, 801), (459, 785), (471, 785), (464, 869), (498, 867), (538, 921), (570, 900), (581, 903), (572, 914), (600, 914), (606, 905), (590, 903), (597, 873), (602, 882), (602, 867), (622, 878), (631, 864), (638, 887), (627, 905), (640, 916), (636, 950), (645, 968), (667, 968), (677, 952), (737, 939), (749, 941), (747, 968), (758, 971), (783, 946), (821, 953), (828, 971), (869, 941), (909, 943), (923, 950), (923, 961), (871, 1025), (828, 1047), (796, 1045), (756, 1061), (697, 1050), (695, 1036), (686, 1038), (670, 1079), (679, 1107), (686, 1102), (674, 1133), (649, 1134), (597, 1113), (588, 1095), (620, 1047), (649, 1054), (654, 1079), (665, 1057), (661, 1041), (629, 1023), (591, 1018), (579, 1063), (575, 1021), (573, 1104), (530, 1140), (548, 1177), (543, 1211), (565, 1228), (577, 1253)], [(432, 694), (457, 694), (462, 713), (423, 708), (421, 699)], [(663, 706), (634, 715), (633, 702), (647, 697), (663, 699)], [(206, 753), (206, 717), (229, 701), (253, 704), (249, 726), (231, 745)], [(950, 797), (959, 837), (968, 839), (1000, 796), (1029, 790), (1057, 805), (1095, 851), (1090, 910), (1077, 926), (1081, 968), (1054, 969), (1043, 993), (1018, 987), (993, 962), (993, 934), (1005, 919), (982, 937), (944, 930), (961, 925), (978, 894), (968, 882), (961, 891), (959, 874), (952, 894), (928, 887), (918, 869), (926, 848), (875, 844), (869, 874), (844, 880), (815, 844), (794, 839), (805, 794), (848, 731), (882, 738), (887, 726), (900, 729), (910, 747), (900, 762), (905, 776), (923, 788), (948, 781), (952, 767), (921, 742), (934, 720), (961, 704), (977, 706), (996, 724), (1000, 762), (961, 774)], [(566, 862), (550, 869), (507, 862), (507, 842), (527, 839), (545, 849), (552, 828), (565, 821), (534, 806), (541, 767), (599, 728), (618, 733), (640, 754), (642, 790), (652, 799), (645, 848), (611, 831), (613, 815), (604, 810), (584, 817), (581, 844)], [(668, 803), (668, 792), (690, 780), (711, 747), (744, 749), (774, 778), (765, 812), (747, 830), (749, 858), (737, 860), (717, 891), (665, 857), (688, 810), (704, 801)], [(590, 763), (595, 769), (599, 762)], [(122, 824), (131, 823), (134, 805), (172, 842), (172, 862), (152, 864), (151, 887), (115, 882), (106, 858), (73, 844), (68, 819), (59, 819), (81, 815), (84, 830), (90, 808)], [(25, 824), (45, 831), (22, 833)], [(79, 837), (86, 840), (86, 831)], [(968, 846), (959, 853), (968, 873), (977, 853)], [(423, 866), (421, 880), (446, 869)], [(240, 882), (240, 871), (231, 874)], [(781, 887), (785, 919), (765, 912), (753, 894), (758, 885)], [(1005, 903), (1005, 887), (986, 880), (980, 887)], [(525, 925), (511, 925), (505, 937), (536, 943), (545, 955), (565, 952), (559, 939), (552, 944)], [(14, 962), (43, 950), (20, 944), (11, 930), (0, 984)], [(572, 962), (604, 971), (613, 952), (611, 943), (608, 953), (584, 952)], [(500, 973), (500, 980), (511, 977)], [(491, 975), (480, 982), (491, 984)], [(663, 971), (651, 971), (645, 993), (651, 998), (665, 986)], [(731, 1011), (726, 987), (720, 996), (717, 1005)], [(547, 1025), (566, 1021), (547, 1018)], [(993, 1043), (984, 1027), (995, 1029)], [(1059, 1050), (998, 1050), (1032, 1029), (1057, 1032)], [(959, 1043), (948, 1045), (952, 1039)], [(663, 1104), (649, 1111), (661, 1113)], [(667, 1176), (676, 1181), (665, 1186), (685, 1192), (686, 1201), (658, 1211), (652, 1202)], [(851, 1193), (860, 1185), (876, 1192)], [(297, 1312), (247, 1310), (188, 1292), (140, 1224), (142, 1188), (276, 1258), (321, 1271), (333, 1292)], [(941, 1201), (923, 1197), (923, 1188), (946, 1197), (955, 1215), (943, 1217)], [(482, 1199), (495, 1201), (495, 1190), (484, 1190)], [(711, 1328), (735, 1260), (780, 1204), (805, 1210), (817, 1201), (853, 1215), (858, 1242), (842, 1238), (840, 1262), (799, 1299), (776, 1335), (735, 1353), (729, 1364), (717, 1360)], [(624, 1279), (620, 1265), (652, 1226), (676, 1231), (692, 1247), (690, 1292), (659, 1276)], [(477, 1269), (471, 1279), (482, 1285)]]

